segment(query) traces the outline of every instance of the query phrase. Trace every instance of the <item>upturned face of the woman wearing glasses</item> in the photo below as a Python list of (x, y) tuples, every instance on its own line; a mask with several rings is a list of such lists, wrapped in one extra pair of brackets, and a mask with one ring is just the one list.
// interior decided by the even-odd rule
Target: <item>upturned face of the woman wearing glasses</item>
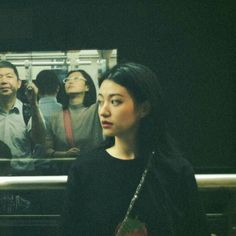
[(87, 92), (86, 79), (80, 72), (71, 73), (65, 80), (65, 90), (67, 94)]

